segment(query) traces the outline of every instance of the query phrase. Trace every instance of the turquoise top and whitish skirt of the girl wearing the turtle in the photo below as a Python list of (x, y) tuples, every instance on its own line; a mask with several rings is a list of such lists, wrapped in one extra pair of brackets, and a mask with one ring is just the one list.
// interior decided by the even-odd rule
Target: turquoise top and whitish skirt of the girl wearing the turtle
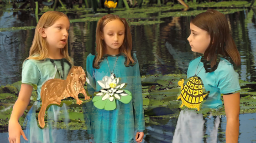
[[(235, 72), (233, 65), (224, 58), (220, 58), (216, 70), (206, 73), (201, 58), (200, 56), (189, 63), (187, 77), (190, 78), (196, 74), (204, 84), (204, 92), (210, 92), (202, 108), (221, 108), (223, 103), (220, 94), (232, 94), (240, 90), (239, 74)], [(209, 118), (211, 117), (208, 117), (207, 120)], [(198, 114), (193, 110), (184, 109), (179, 114), (172, 143), (204, 143), (203, 137), (206, 128), (206, 133), (209, 135), (206, 142), (217, 143), (219, 116), (214, 119), (214, 122), (214, 127), (209, 128), (209, 124), (204, 124), (202, 113)]]

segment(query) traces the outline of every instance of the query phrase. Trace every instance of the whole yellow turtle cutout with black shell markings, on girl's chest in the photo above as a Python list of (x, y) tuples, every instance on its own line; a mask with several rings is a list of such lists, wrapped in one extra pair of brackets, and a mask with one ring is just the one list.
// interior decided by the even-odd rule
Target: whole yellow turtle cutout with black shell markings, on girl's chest
[(197, 108), (200, 110), (200, 104), (203, 102), (204, 98), (209, 94), (203, 93), (203, 87), (200, 81), (200, 78), (197, 76), (193, 76), (189, 79), (187, 84), (183, 86), (184, 79), (180, 79), (178, 85), (181, 86), (181, 94), (178, 96), (178, 99), (181, 99), (182, 104), (187, 106), (188, 108)]

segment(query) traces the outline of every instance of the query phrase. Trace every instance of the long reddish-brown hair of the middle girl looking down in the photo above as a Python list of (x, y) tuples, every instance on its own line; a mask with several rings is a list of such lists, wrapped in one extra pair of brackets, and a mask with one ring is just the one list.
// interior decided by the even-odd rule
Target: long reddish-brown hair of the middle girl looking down
[(96, 28), (97, 57), (96, 57), (95, 63), (94, 63), (95, 67), (98, 66), (98, 62), (103, 57), (104, 51), (106, 49), (104, 40), (101, 39), (101, 34), (103, 34), (103, 28), (107, 23), (109, 23), (112, 20), (120, 20), (125, 25), (125, 39), (124, 39), (123, 44), (120, 47), (120, 52), (124, 53), (126, 55), (126, 57), (127, 57), (126, 64), (129, 64), (130, 61), (132, 63), (134, 63), (134, 60), (131, 57), (131, 49), (132, 49), (131, 31), (130, 31), (127, 21), (125, 20), (125, 18), (120, 18), (118, 15), (108, 14), (108, 15), (103, 16), (97, 23), (97, 28)]

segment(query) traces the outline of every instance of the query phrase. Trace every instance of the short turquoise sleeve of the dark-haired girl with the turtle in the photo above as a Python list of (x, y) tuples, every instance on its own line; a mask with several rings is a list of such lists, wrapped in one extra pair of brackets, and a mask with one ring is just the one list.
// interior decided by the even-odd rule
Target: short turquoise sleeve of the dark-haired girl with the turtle
[(215, 76), (221, 94), (234, 93), (240, 90), (239, 74), (235, 72), (232, 64), (218, 66)]

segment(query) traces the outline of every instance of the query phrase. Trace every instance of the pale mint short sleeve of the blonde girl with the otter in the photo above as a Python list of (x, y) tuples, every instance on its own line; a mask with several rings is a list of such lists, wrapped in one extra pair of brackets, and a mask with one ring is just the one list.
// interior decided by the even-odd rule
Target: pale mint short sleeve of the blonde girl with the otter
[(30, 59), (26, 60), (22, 66), (21, 82), (23, 84), (36, 84), (40, 79), (40, 71), (38, 70), (36, 64), (34, 64)]

